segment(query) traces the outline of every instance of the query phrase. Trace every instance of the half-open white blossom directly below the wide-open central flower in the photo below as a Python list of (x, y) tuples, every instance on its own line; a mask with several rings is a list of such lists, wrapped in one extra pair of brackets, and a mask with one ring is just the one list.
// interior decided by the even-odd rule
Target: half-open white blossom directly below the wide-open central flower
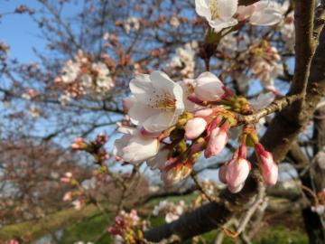
[(131, 127), (119, 127), (118, 131), (125, 135), (115, 141), (113, 154), (121, 157), (125, 162), (140, 164), (157, 155), (159, 150), (157, 138), (145, 137), (140, 131)]

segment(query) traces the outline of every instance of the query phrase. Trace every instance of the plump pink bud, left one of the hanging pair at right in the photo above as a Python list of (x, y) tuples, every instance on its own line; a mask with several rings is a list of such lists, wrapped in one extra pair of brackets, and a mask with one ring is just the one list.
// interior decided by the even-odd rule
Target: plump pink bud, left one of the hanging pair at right
[(230, 192), (237, 192), (240, 186), (245, 183), (249, 171), (250, 163), (244, 158), (235, 158), (228, 163), (226, 180)]

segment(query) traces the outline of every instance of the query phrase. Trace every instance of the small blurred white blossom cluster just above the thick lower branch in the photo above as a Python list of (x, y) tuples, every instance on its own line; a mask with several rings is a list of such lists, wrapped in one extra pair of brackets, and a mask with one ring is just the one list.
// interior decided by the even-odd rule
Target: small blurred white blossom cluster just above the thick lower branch
[(159, 202), (158, 205), (154, 206), (153, 216), (165, 215), (165, 221), (170, 223), (180, 218), (181, 214), (184, 213), (186, 204), (184, 201), (180, 201), (178, 204), (168, 201)]

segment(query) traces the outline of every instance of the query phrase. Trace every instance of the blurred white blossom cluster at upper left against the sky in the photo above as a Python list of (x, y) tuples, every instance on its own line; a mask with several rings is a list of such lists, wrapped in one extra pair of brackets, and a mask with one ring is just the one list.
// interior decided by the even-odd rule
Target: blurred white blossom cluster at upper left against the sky
[(82, 95), (105, 95), (114, 87), (110, 72), (113, 68), (105, 59), (95, 61), (90, 55), (79, 51), (74, 61), (65, 63), (61, 75), (55, 79), (56, 85), (64, 89), (61, 103), (65, 104), (70, 98), (78, 99)]

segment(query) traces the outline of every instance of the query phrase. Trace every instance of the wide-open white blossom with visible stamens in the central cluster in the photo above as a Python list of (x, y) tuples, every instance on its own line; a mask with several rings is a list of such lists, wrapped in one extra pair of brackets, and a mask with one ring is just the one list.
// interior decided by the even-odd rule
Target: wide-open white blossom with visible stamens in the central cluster
[(130, 89), (136, 99), (129, 110), (131, 121), (148, 132), (172, 127), (184, 111), (181, 85), (161, 71), (136, 76)]

